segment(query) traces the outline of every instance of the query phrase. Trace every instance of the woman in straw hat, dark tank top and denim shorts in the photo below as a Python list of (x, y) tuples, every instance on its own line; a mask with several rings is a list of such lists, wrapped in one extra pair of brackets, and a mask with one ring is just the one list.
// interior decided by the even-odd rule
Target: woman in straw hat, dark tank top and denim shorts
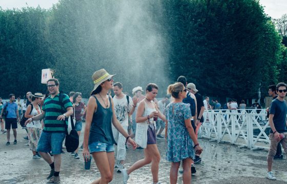
[(112, 98), (107, 95), (113, 88), (113, 76), (105, 69), (98, 70), (92, 75), (95, 85), (87, 104), (83, 149), (84, 159), (88, 161), (91, 153), (101, 175), (92, 183), (109, 183), (113, 179), (115, 140), (112, 123), (126, 137), (126, 142), (129, 142), (133, 149), (137, 146), (117, 121)]

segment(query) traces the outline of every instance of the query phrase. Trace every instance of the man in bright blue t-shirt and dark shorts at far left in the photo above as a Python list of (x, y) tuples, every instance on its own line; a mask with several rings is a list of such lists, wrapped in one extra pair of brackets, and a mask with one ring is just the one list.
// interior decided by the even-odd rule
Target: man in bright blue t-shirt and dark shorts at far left
[(17, 122), (19, 121), (19, 111), (18, 111), (18, 105), (14, 102), (15, 101), (15, 95), (10, 94), (9, 95), (9, 102), (5, 102), (3, 109), (1, 111), (1, 116), (5, 117), (5, 129), (7, 129), (7, 143), (6, 145), (10, 145), (10, 129), (12, 126), (13, 135), (14, 135), (14, 142), (13, 144), (17, 144)]

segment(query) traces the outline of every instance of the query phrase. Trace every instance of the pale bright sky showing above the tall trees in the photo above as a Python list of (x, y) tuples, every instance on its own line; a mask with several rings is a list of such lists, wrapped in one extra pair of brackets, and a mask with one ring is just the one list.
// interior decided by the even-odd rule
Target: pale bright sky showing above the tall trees
[[(26, 7), (27, 3), (28, 6), (37, 7), (39, 5), (48, 9), (57, 2), (58, 0), (0, 0), (0, 7), (3, 9), (22, 8)], [(260, 0), (260, 3), (265, 6), (265, 13), (272, 18), (280, 18), (287, 13), (287, 0)]]

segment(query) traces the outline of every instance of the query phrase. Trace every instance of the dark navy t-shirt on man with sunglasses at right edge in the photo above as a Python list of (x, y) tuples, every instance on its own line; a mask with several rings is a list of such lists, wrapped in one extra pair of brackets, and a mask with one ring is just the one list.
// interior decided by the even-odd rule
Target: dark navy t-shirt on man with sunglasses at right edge
[[(287, 113), (287, 105), (286, 101), (280, 101), (275, 99), (271, 103), (270, 114), (274, 114), (273, 123), (277, 132), (287, 132), (286, 128), (286, 113)], [(272, 129), (270, 129), (270, 133), (273, 133)]]

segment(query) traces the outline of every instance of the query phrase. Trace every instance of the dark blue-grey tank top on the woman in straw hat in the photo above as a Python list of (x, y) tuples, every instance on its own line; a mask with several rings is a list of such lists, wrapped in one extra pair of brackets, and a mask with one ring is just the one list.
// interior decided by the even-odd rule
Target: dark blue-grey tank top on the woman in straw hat
[(97, 102), (97, 111), (93, 114), (91, 123), (89, 144), (100, 141), (109, 145), (115, 144), (112, 132), (113, 110), (111, 98), (109, 97), (110, 107), (104, 108), (99, 103), (98, 99), (93, 96)]

